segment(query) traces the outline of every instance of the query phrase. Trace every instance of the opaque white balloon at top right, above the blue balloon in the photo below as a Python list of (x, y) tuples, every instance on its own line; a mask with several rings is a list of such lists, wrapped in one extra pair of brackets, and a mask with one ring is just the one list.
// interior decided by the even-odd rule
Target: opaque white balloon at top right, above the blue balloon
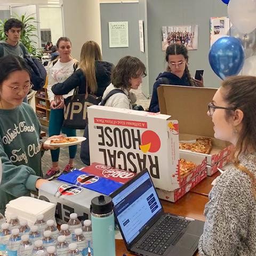
[(228, 17), (241, 33), (251, 33), (256, 28), (256, 0), (230, 0)]

